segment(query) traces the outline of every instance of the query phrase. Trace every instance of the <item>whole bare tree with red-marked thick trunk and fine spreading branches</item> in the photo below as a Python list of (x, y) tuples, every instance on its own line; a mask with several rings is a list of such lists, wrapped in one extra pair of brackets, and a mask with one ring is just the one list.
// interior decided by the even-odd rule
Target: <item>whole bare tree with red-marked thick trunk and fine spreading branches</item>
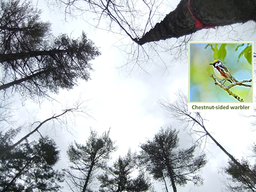
[[(118, 68), (128, 73), (134, 70), (147, 73), (146, 67), (156, 63), (156, 58), (157, 63), (163, 63), (168, 70), (162, 53), (171, 53), (173, 59), (184, 58), (187, 42), (197, 31), (203, 29), (205, 34), (209, 34), (209, 28), (255, 20), (254, 1), (181, 0), (175, 9), (171, 7), (172, 3), (158, 0), (46, 2), (51, 8), (56, 4), (65, 7), (66, 16), (86, 18), (85, 22), (90, 25), (118, 34), (118, 43), (121, 43), (116, 43), (116, 47), (125, 52), (127, 59)], [(212, 11), (216, 5), (221, 6)], [(124, 38), (131, 41), (123, 43)], [(159, 42), (168, 39), (170, 41)]]

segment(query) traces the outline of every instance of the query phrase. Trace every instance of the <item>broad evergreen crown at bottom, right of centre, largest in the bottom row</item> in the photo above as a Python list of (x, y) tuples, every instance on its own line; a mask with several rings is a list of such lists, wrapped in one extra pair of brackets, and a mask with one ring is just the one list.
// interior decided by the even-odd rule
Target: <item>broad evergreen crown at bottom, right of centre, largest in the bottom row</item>
[(169, 127), (166, 130), (162, 128), (152, 141), (147, 140), (140, 146), (142, 165), (157, 180), (169, 178), (174, 192), (177, 192), (177, 184), (184, 186), (187, 181), (201, 185), (203, 178), (197, 173), (206, 164), (204, 154), (194, 157), (196, 145), (178, 149), (178, 133)]

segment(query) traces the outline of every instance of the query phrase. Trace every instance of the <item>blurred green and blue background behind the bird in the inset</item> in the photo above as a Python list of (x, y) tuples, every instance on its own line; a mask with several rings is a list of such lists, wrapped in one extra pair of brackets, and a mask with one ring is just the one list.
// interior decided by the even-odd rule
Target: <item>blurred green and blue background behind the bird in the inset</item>
[[(252, 43), (189, 43), (189, 102), (239, 102), (210, 77), (209, 65), (220, 60), (238, 81), (252, 78)], [(219, 79), (217, 79), (219, 81)], [(225, 86), (231, 83), (226, 81)], [(251, 84), (251, 83), (246, 83)], [(235, 86), (230, 89), (245, 102), (252, 102), (252, 88)]]

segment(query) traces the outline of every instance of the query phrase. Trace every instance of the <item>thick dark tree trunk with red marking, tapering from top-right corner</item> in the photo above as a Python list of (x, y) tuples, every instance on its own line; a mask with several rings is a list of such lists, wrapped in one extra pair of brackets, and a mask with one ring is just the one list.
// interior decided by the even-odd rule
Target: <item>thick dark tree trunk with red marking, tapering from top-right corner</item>
[(135, 42), (143, 45), (250, 20), (256, 21), (256, 0), (181, 0), (174, 11)]

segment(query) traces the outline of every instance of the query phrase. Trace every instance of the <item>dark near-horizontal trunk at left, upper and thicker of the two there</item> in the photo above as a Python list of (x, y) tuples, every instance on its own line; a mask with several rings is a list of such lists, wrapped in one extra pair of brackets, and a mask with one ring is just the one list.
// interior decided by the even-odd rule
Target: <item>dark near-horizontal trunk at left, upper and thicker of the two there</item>
[(14, 61), (18, 59), (25, 59), (25, 58), (36, 57), (36, 56), (55, 55), (58, 53), (66, 53), (68, 51), (69, 51), (68, 49), (63, 49), (63, 50), (53, 49), (49, 51), (30, 51), (30, 52), (1, 54), (0, 62)]

